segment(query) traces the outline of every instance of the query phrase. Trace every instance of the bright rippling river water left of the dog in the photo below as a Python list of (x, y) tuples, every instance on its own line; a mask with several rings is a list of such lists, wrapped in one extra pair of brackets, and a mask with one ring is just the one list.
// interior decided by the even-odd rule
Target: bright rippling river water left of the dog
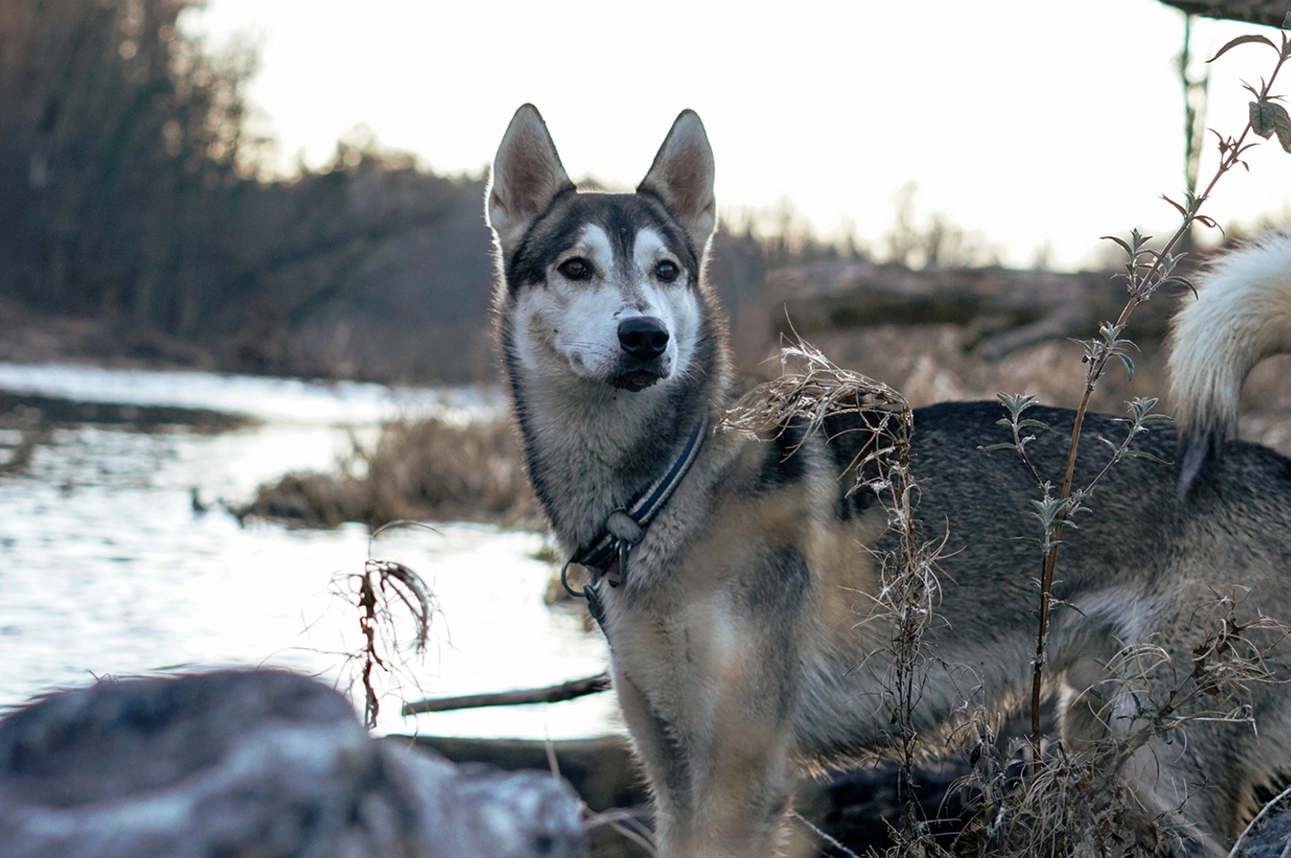
[[(621, 730), (607, 694), (580, 701), (420, 715), (399, 704), (553, 684), (605, 664), (576, 612), (553, 610), (541, 534), (478, 524), (403, 529), (371, 541), (336, 530), (238, 524), (218, 499), (248, 499), (293, 468), (330, 470), (381, 421), (496, 414), (476, 388), (392, 390), (293, 379), (0, 364), (0, 390), (77, 403), (247, 414), (223, 432), (133, 431), (96, 423), (46, 432), (23, 468), (0, 474), (0, 712), (103, 676), (272, 664), (350, 690), (359, 645), (347, 575), (398, 560), (438, 606), (427, 652), (382, 676), (378, 730), (573, 738)], [(0, 464), (21, 443), (0, 430)], [(209, 511), (194, 507), (194, 490)], [(361, 690), (358, 693), (361, 699)]]

